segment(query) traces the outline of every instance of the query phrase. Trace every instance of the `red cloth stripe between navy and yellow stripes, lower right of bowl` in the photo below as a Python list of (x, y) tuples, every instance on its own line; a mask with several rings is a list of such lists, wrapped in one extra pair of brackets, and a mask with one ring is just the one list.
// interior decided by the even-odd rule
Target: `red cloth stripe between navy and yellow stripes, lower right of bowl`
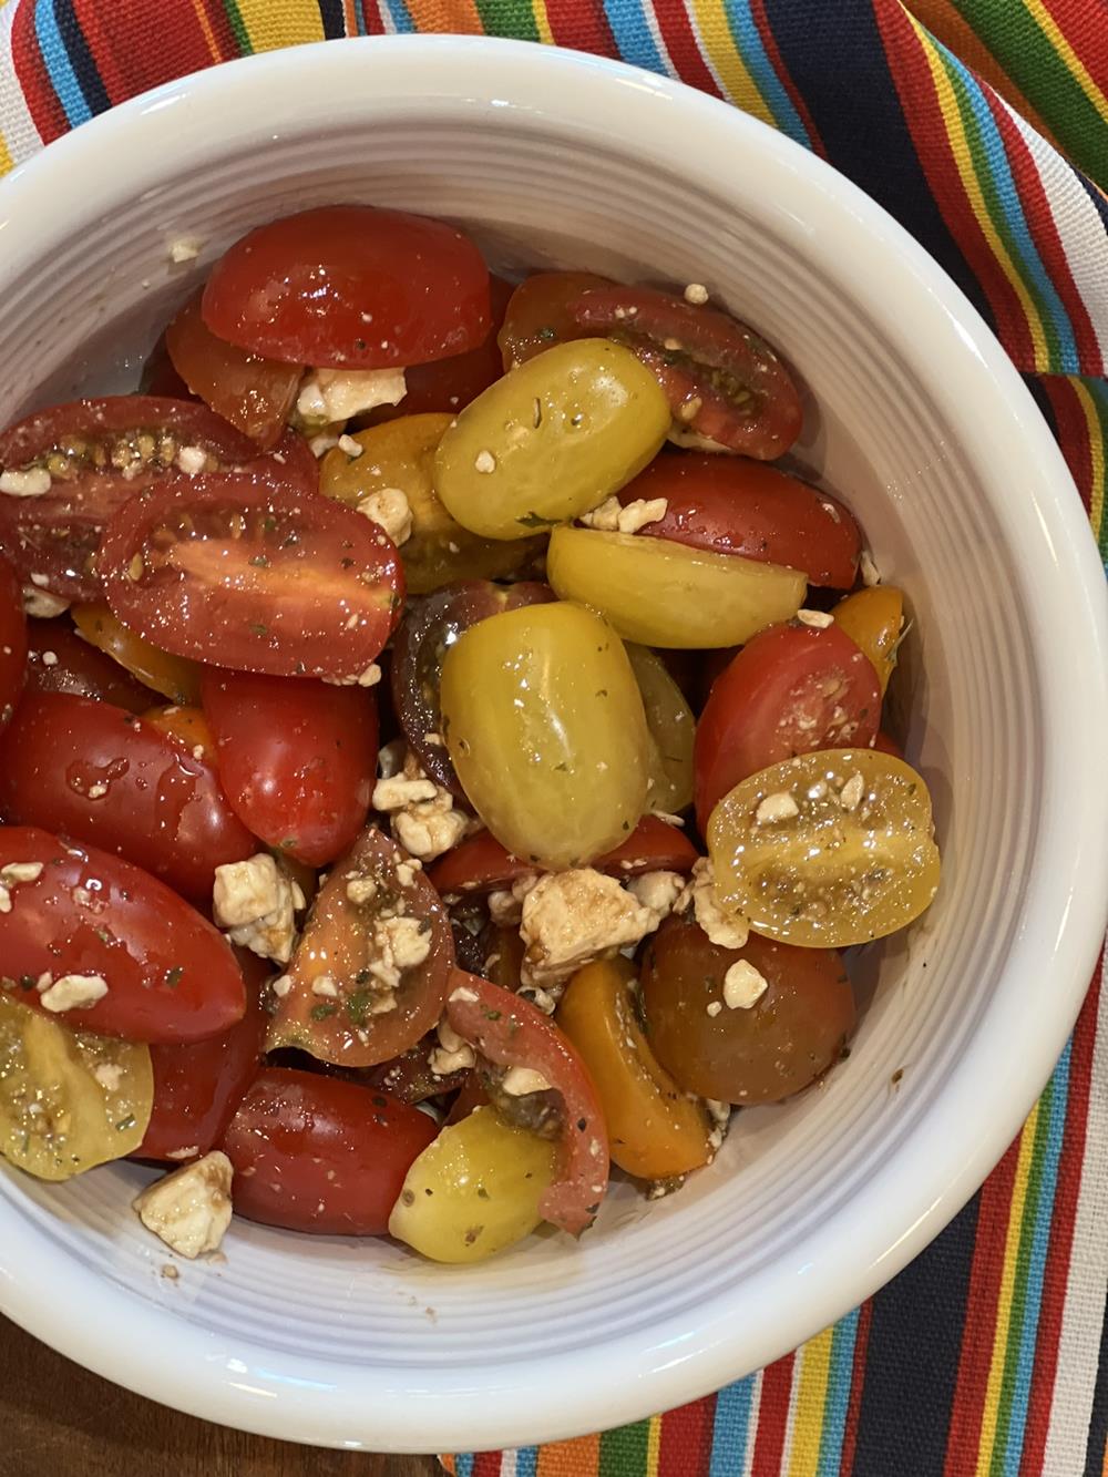
[(1005, 1239), (1012, 1211), (1019, 1139), (1009, 1148), (981, 1189), (974, 1263), (969, 1269), (966, 1322), (957, 1366), (954, 1403), (947, 1434), (944, 1477), (965, 1477), (977, 1470), (981, 1416), (993, 1357), (996, 1310), (1005, 1270)]

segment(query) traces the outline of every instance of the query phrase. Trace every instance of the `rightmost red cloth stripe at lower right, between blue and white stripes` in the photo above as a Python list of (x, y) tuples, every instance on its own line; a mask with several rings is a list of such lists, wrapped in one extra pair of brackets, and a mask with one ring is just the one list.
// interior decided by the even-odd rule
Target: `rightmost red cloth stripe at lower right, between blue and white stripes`
[(1086, 1127), (1089, 1123), (1089, 1084), (1093, 1075), (1093, 1047), (1096, 1044), (1096, 1012), (1101, 997), (1101, 970), (1086, 997), (1081, 1015), (1074, 1028), (1070, 1047), (1070, 1100), (1065, 1112), (1062, 1155), (1058, 1162), (1058, 1186), (1055, 1189), (1055, 1211), (1050, 1223), (1050, 1255), (1043, 1276), (1043, 1297), (1039, 1312), (1039, 1334), (1036, 1335), (1036, 1357), (1031, 1372), (1031, 1393), (1027, 1406), (1024, 1430), (1024, 1455), (1019, 1462), (1021, 1477), (1040, 1477), (1046, 1437), (1050, 1430), (1050, 1406), (1058, 1372), (1058, 1346), (1062, 1337), (1062, 1313), (1065, 1289), (1070, 1278), (1070, 1257), (1077, 1223), (1077, 1201), (1081, 1193), (1081, 1167), (1084, 1164)]

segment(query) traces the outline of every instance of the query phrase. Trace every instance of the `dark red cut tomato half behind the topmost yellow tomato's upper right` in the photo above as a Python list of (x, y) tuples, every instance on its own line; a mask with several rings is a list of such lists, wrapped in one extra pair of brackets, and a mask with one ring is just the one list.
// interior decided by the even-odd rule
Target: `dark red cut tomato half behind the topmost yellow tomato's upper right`
[(597, 288), (570, 307), (589, 334), (634, 349), (657, 375), (675, 419), (746, 456), (783, 456), (804, 422), (792, 375), (752, 328), (712, 307), (644, 287)]

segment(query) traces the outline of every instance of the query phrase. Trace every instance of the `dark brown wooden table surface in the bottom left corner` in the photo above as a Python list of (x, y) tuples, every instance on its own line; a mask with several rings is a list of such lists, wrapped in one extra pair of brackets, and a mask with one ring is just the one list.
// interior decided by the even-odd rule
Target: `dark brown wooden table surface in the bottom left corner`
[(371, 1456), (208, 1425), (108, 1384), (0, 1319), (1, 1477), (442, 1477), (433, 1456)]

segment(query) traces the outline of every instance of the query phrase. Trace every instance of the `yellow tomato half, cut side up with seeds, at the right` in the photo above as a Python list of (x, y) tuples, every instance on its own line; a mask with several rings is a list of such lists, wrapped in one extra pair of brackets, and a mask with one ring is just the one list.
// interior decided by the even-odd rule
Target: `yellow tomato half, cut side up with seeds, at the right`
[(752, 774), (712, 811), (708, 849), (722, 905), (807, 948), (895, 933), (938, 889), (928, 787), (875, 749), (802, 753)]

